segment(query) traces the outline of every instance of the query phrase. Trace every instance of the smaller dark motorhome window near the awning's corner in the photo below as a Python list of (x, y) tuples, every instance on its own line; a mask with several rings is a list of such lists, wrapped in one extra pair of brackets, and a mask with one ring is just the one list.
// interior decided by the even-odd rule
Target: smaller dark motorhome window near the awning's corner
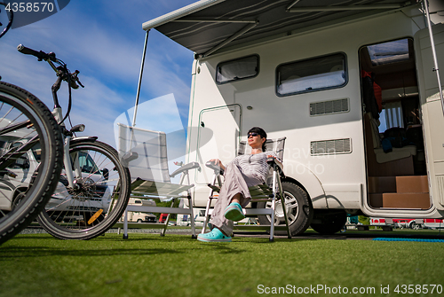
[(259, 56), (249, 56), (218, 64), (216, 82), (226, 83), (255, 77), (259, 73)]

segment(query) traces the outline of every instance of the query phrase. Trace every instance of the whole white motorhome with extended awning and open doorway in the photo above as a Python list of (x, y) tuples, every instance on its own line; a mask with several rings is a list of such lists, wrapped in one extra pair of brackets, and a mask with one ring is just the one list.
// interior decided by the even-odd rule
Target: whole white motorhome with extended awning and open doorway
[(205, 162), (233, 160), (259, 126), (287, 137), (293, 235), (339, 231), (347, 214), (442, 218), (443, 22), (439, 0), (202, 0), (144, 23), (147, 38), (194, 51), (194, 209), (209, 195)]

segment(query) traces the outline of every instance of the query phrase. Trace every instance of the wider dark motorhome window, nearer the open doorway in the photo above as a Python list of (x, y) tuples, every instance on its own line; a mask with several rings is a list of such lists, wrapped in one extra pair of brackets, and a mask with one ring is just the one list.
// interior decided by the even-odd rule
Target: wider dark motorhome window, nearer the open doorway
[(305, 59), (278, 66), (278, 96), (340, 88), (347, 83), (345, 54)]

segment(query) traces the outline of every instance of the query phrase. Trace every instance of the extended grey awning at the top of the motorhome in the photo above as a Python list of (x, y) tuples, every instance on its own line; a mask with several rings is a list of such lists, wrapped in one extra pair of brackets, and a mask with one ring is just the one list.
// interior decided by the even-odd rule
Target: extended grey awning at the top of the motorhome
[(222, 48), (400, 10), (411, 4), (417, 1), (202, 0), (149, 20), (142, 27), (155, 28), (203, 57)]

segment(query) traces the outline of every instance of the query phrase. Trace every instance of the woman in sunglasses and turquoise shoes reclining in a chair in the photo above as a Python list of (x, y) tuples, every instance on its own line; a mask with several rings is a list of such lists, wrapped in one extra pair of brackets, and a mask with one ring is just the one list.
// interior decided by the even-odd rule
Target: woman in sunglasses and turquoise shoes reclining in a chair
[(225, 182), (220, 188), (218, 200), (210, 219), (210, 232), (199, 234), (204, 242), (231, 241), (234, 221), (245, 218), (242, 207), (250, 203), (249, 187), (266, 182), (268, 175), (267, 158), (277, 158), (272, 151), (266, 152), (266, 131), (253, 127), (247, 134), (251, 154), (236, 157), (226, 167), (218, 159), (211, 159), (224, 169)]

